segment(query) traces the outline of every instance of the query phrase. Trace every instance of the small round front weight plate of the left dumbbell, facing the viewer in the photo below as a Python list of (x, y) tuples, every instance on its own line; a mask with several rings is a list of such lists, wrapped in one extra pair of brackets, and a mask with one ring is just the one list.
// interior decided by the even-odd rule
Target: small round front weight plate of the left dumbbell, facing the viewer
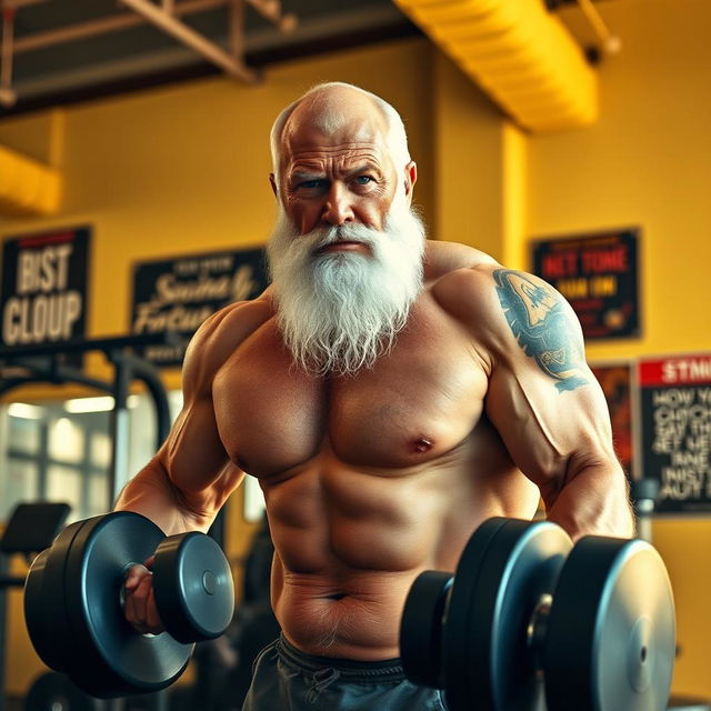
[(234, 613), (230, 564), (218, 542), (204, 533), (161, 541), (153, 562), (153, 593), (161, 621), (181, 641), (211, 640)]

